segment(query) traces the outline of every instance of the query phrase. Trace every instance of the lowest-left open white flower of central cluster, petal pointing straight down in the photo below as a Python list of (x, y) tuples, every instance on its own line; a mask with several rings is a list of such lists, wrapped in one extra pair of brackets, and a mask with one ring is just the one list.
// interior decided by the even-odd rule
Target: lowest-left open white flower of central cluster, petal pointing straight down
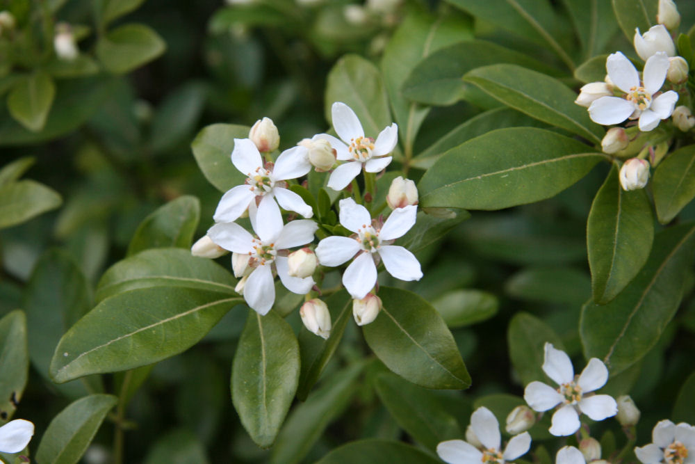
[(253, 271), (243, 286), (244, 299), (256, 312), (265, 315), (275, 302), (272, 264), (275, 264), (277, 275), (289, 291), (304, 295), (314, 285), (311, 277), (289, 275), (288, 258), (284, 250), (311, 242), (318, 225), (306, 219), (282, 225), (281, 216), (261, 218), (260, 211), (253, 203), (249, 217), (258, 237), (253, 237), (237, 223), (215, 224), (208, 230), (208, 236), (225, 250), (249, 256), (249, 266)]

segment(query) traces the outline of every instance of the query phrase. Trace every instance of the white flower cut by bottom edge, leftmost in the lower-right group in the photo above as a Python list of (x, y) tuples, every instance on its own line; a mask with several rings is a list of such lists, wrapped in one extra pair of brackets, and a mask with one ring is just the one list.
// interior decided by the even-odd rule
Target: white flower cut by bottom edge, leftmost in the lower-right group
[(436, 453), (449, 464), (504, 464), (525, 454), (531, 447), (528, 432), (514, 435), (507, 447), (500, 449), (502, 437), (497, 418), (484, 406), (471, 415), (471, 427), (483, 445), (482, 451), (464, 440), (448, 440), (436, 446)]

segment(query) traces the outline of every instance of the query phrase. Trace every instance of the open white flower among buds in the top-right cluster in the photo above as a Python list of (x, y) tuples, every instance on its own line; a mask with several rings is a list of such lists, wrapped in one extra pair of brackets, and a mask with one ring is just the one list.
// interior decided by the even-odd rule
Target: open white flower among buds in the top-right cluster
[(608, 56), (606, 70), (617, 88), (626, 93), (621, 97), (600, 97), (589, 106), (589, 116), (602, 125), (613, 125), (627, 118), (639, 118), (639, 130), (651, 131), (662, 119), (668, 118), (676, 106), (678, 94), (673, 90), (657, 97), (669, 70), (669, 57), (659, 52), (644, 65), (643, 81), (630, 60), (620, 51)]

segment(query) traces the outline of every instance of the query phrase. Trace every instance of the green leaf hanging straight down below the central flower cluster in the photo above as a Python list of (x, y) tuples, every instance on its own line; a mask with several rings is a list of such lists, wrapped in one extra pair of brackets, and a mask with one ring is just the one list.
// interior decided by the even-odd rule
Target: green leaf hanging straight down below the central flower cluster
[(249, 310), (231, 367), (231, 400), (256, 445), (275, 441), (297, 391), (300, 347), (275, 312)]

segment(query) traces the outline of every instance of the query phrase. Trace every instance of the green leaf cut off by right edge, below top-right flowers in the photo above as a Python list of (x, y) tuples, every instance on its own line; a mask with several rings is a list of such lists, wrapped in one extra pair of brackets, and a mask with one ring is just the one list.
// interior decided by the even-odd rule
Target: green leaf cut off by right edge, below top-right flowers
[(651, 186), (659, 222), (670, 223), (695, 198), (695, 145), (679, 148), (659, 163)]

